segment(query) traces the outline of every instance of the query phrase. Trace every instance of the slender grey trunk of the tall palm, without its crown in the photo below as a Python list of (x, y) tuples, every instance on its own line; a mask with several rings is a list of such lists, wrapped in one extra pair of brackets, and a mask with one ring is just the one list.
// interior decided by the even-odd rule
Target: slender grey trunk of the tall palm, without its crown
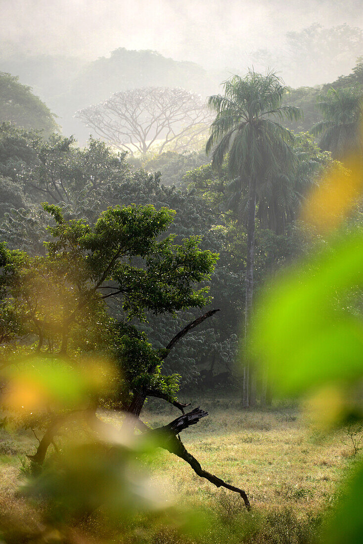
[[(247, 339), (248, 324), (252, 308), (253, 288), (254, 288), (254, 267), (255, 267), (255, 219), (256, 219), (256, 188), (251, 183), (248, 200), (248, 221), (247, 221), (247, 263), (245, 279), (245, 322), (244, 337)], [(250, 367), (247, 359), (243, 369), (243, 406), (248, 408), (250, 405)]]

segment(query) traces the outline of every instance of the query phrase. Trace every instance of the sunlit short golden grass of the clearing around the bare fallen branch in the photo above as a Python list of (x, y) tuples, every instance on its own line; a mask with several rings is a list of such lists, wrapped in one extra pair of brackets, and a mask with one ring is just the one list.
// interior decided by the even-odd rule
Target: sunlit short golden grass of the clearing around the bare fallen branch
[[(323, 436), (291, 407), (246, 411), (227, 395), (199, 402), (210, 415), (183, 432), (184, 444), (208, 471), (245, 489), (255, 506), (319, 510), (333, 500), (352, 455), (343, 432)], [(144, 412), (152, 426), (173, 417), (176, 410), (159, 402)], [(160, 452), (153, 465), (156, 477), (183, 502), (220, 493), (168, 452)]]

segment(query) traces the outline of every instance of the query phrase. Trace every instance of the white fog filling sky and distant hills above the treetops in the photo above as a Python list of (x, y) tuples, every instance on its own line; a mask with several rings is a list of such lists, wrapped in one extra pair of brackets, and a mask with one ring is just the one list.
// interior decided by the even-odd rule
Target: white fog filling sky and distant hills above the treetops
[(363, 54), (363, 0), (0, 4), (0, 71), (30, 85), (64, 133), (82, 141), (89, 133), (76, 111), (122, 89), (181, 86), (208, 96), (250, 66), (271, 67), (295, 88), (323, 85)]

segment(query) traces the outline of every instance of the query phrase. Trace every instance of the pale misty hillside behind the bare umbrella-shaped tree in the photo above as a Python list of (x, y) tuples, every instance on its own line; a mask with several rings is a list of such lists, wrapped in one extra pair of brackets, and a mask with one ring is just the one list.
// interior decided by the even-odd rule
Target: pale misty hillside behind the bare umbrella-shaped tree
[(59, 116), (65, 134), (74, 133), (84, 141), (88, 129), (73, 119), (85, 106), (108, 98), (113, 92), (142, 86), (181, 86), (203, 96), (218, 92), (225, 73), (212, 73), (198, 64), (180, 62), (155, 51), (128, 51), (120, 48), (109, 57), (87, 64), (78, 59), (37, 55), (0, 58), (0, 70), (20, 76), (33, 86)]

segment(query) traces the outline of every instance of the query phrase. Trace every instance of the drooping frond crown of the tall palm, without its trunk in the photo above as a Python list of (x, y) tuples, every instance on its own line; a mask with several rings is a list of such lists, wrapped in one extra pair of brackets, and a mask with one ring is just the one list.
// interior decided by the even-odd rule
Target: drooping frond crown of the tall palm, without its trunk
[(224, 96), (212, 96), (208, 102), (217, 117), (211, 126), (207, 152), (213, 150), (215, 166), (222, 164), (228, 152), (230, 175), (257, 180), (266, 175), (266, 169), (287, 159), (290, 151), (286, 142), (293, 139), (268, 116), (292, 120), (299, 117), (299, 111), (280, 105), (286, 88), (273, 72), (262, 76), (249, 71), (244, 78), (233, 76), (225, 82), (224, 91)]

